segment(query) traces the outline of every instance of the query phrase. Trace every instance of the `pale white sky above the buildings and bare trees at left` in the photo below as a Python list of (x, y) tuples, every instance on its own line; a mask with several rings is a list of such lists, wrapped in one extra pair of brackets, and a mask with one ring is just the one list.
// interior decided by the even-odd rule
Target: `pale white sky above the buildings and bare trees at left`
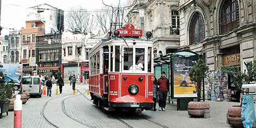
[[(119, 0), (104, 0), (105, 4), (118, 3)], [(127, 0), (120, 0), (127, 2)], [(102, 0), (2, 0), (1, 26), (3, 27), (1, 36), (9, 34), (8, 28), (20, 30), (26, 25), (26, 9), (36, 5), (46, 3), (62, 10), (69, 10), (71, 7), (82, 6), (88, 10), (100, 9), (104, 6)], [(12, 30), (11, 30), (12, 31)]]

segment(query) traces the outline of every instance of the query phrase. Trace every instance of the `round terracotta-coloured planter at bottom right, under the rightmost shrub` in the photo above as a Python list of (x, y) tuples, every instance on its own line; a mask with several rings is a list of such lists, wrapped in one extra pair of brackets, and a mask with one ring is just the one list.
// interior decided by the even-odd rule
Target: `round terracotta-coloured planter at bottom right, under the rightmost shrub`
[(231, 127), (243, 127), (242, 119), (241, 119), (241, 107), (240, 106), (232, 106), (228, 109), (228, 124)]

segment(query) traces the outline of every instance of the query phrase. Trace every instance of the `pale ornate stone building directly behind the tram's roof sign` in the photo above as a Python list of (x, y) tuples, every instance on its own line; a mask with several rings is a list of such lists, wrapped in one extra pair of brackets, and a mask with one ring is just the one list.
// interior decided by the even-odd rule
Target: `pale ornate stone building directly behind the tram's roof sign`
[[(135, 0), (130, 0), (133, 5)], [(154, 55), (177, 51), (180, 44), (180, 17), (177, 11), (179, 0), (137, 0), (128, 10), (128, 23), (136, 29), (142, 29), (144, 36), (147, 31), (153, 33)]]

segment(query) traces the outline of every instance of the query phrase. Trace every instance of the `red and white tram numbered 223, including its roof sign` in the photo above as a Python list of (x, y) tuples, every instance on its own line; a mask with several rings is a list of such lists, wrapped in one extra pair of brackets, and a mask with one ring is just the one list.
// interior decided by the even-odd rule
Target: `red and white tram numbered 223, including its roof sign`
[[(126, 33), (121, 31), (114, 34)], [(152, 33), (146, 35), (149, 38)], [(122, 39), (116, 36), (94, 46), (90, 52), (89, 80), (93, 103), (104, 111), (152, 110), (152, 48), (153, 42), (131, 36)]]

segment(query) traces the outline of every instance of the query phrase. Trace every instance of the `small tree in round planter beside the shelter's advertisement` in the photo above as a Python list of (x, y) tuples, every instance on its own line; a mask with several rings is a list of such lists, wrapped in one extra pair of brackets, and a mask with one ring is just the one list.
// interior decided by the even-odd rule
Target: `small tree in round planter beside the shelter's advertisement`
[[(197, 99), (198, 102), (189, 102), (188, 103), (188, 114), (191, 117), (204, 117), (205, 109), (210, 108), (209, 102), (200, 102), (201, 100), (201, 86), (203, 84), (203, 78), (206, 77), (207, 72), (209, 71), (209, 66), (207, 66), (203, 59), (198, 59), (198, 62), (193, 66), (189, 71), (189, 77), (192, 82), (195, 84), (197, 90)], [(210, 110), (209, 110), (210, 114)]]

